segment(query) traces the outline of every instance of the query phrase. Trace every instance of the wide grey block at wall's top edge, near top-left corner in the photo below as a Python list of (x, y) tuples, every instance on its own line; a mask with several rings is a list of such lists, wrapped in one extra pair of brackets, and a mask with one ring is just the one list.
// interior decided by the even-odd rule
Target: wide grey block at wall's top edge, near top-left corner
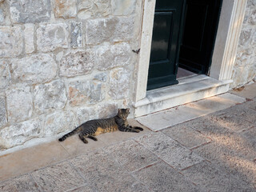
[(10, 18), (13, 22), (46, 22), (50, 20), (50, 0), (10, 0)]

